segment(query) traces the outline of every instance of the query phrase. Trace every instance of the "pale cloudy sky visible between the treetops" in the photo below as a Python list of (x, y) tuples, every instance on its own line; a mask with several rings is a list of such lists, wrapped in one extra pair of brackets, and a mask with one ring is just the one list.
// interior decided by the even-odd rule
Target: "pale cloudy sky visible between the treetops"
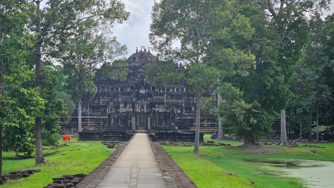
[[(159, 0), (158, 0), (159, 1)], [(136, 47), (151, 46), (148, 40), (148, 33), (151, 23), (151, 11), (154, 0), (122, 0), (126, 5), (126, 10), (131, 12), (129, 20), (123, 24), (115, 24), (112, 28), (114, 35), (122, 44), (128, 46), (128, 56), (136, 52)], [(331, 10), (324, 12), (325, 15), (334, 11), (334, 4), (331, 4)], [(153, 52), (154, 53), (154, 52)]]

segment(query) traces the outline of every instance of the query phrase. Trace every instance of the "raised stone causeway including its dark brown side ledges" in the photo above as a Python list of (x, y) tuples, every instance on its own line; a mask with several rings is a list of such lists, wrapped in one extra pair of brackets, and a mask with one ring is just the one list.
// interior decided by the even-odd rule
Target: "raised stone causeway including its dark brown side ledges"
[(197, 187), (159, 146), (147, 134), (136, 133), (75, 187)]

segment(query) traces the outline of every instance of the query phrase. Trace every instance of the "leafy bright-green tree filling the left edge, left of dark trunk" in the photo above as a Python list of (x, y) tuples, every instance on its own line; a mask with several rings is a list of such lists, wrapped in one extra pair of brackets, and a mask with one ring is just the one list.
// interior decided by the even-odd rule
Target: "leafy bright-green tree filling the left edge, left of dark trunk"
[[(3, 145), (4, 151), (13, 149), (17, 153), (22, 151), (27, 154), (34, 151), (29, 130), (45, 102), (35, 89), (21, 86), (23, 81), (33, 76), (24, 63), (27, 47), (34, 44), (32, 35), (26, 30), (29, 23), (27, 15), (31, 11), (27, 4), (27, 1), (0, 2), (0, 174)], [(6, 132), (10, 134), (3, 134)], [(2, 135), (8, 136), (4, 138), (4, 143)]]

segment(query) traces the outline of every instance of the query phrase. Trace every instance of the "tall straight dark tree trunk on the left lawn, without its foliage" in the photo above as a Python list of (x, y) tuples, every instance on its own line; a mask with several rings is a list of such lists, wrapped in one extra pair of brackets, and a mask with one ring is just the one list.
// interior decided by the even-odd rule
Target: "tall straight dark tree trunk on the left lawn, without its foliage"
[[(40, 1), (36, 1), (37, 11), (40, 10), (39, 7)], [(38, 19), (37, 23), (37, 33), (41, 33), (41, 24)], [(38, 88), (38, 92), (40, 92), (41, 88), (41, 47), (42, 47), (42, 37), (38, 35), (37, 37), (37, 49), (36, 49), (36, 87)], [(36, 165), (41, 163), (46, 163), (43, 157), (43, 149), (42, 149), (42, 118), (36, 117), (35, 119), (35, 139), (36, 139)]]

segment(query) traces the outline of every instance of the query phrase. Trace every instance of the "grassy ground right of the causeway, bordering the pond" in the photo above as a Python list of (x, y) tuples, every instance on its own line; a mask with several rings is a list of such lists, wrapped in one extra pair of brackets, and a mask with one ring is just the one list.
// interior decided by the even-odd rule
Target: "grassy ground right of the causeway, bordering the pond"
[[(205, 135), (205, 141), (212, 140)], [(241, 142), (213, 140), (233, 146)], [(302, 180), (278, 176), (283, 172), (270, 171), (266, 165), (245, 162), (247, 158), (286, 158), (334, 161), (334, 144), (314, 144), (326, 148), (284, 148), (266, 146), (262, 150), (247, 150), (243, 147), (201, 146), (202, 156), (195, 155), (193, 147), (163, 146), (172, 159), (184, 170), (199, 188), (296, 188), (304, 187)], [(254, 182), (254, 184), (252, 183)]]

